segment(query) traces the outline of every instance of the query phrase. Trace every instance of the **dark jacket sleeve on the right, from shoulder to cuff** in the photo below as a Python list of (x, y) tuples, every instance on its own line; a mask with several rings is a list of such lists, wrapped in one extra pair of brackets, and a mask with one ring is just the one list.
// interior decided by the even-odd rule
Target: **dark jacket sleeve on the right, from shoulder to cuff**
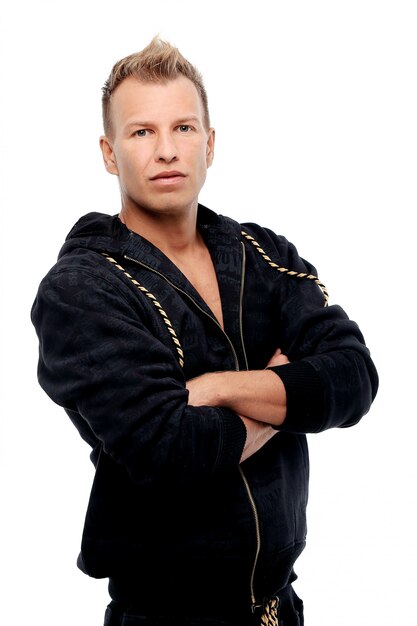
[[(284, 237), (267, 229), (255, 235), (280, 266), (317, 276)], [(270, 368), (280, 376), (287, 394), (287, 416), (279, 430), (314, 433), (356, 424), (369, 411), (378, 389), (378, 375), (359, 327), (341, 307), (325, 307), (322, 291), (312, 280), (281, 274), (277, 293), (279, 347), (290, 360)]]

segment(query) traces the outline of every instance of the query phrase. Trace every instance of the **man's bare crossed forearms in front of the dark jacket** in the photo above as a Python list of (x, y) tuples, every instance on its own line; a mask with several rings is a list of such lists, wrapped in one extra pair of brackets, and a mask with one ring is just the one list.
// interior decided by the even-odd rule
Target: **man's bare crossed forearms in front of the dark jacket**
[[(288, 358), (276, 350), (267, 367), (285, 365)], [(278, 431), (286, 415), (286, 393), (271, 370), (211, 372), (187, 382), (192, 406), (222, 406), (235, 411), (245, 424), (247, 437), (241, 462), (255, 454)]]

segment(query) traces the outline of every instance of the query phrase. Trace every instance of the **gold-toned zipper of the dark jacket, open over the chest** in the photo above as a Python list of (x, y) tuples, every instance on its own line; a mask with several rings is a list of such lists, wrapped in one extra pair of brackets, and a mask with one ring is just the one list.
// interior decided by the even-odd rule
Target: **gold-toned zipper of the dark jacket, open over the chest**
[[(241, 282), (241, 287), (240, 287), (240, 301), (239, 301), (239, 327), (240, 327), (240, 340), (242, 343), (242, 350), (243, 350), (243, 354), (244, 354), (244, 358), (245, 358), (245, 365), (246, 365), (246, 369), (248, 370), (248, 360), (246, 357), (246, 351), (245, 351), (245, 345), (244, 345), (244, 341), (243, 341), (243, 330), (242, 330), (242, 313), (243, 313), (243, 290), (244, 290), (244, 285), (245, 285), (245, 268), (246, 268), (246, 252), (245, 252), (245, 246), (243, 244), (243, 242), (241, 242), (242, 244), (242, 282)], [(175, 289), (176, 291), (179, 291), (180, 293), (184, 294), (189, 300), (191, 300), (191, 302), (198, 308), (199, 311), (201, 311), (202, 313), (204, 313), (204, 315), (206, 317), (208, 317), (209, 319), (211, 319), (216, 326), (220, 329), (220, 331), (223, 333), (224, 337), (227, 339), (227, 342), (229, 344), (229, 347), (231, 349), (232, 355), (233, 355), (233, 360), (235, 362), (235, 369), (238, 372), (240, 370), (239, 368), (239, 361), (237, 358), (237, 354), (236, 351), (233, 347), (232, 341), (229, 338), (229, 336), (225, 333), (225, 331), (223, 330), (223, 328), (220, 326), (219, 322), (216, 320), (215, 317), (213, 317), (212, 315), (210, 315), (210, 313), (207, 313), (207, 311), (205, 311), (199, 304), (198, 302), (192, 297), (190, 296), (190, 294), (188, 294), (186, 291), (184, 291), (184, 289), (181, 289), (181, 287), (178, 287), (177, 285), (175, 285), (173, 282), (171, 282), (169, 280), (169, 278), (167, 278), (164, 274), (162, 274), (161, 272), (158, 272), (158, 270), (155, 270), (153, 267), (149, 267), (149, 265), (146, 265), (146, 263), (143, 263), (142, 261), (138, 261), (137, 259), (134, 259), (133, 257), (127, 256), (126, 254), (123, 255), (124, 258), (128, 261), (132, 261), (133, 263), (136, 263), (137, 265), (141, 265), (142, 267), (148, 269), (150, 272), (153, 272), (154, 274), (157, 274), (158, 276), (160, 276), (161, 278), (163, 278), (169, 285), (171, 285), (171, 287), (173, 287), (173, 289)], [(252, 567), (252, 571), (251, 571), (251, 577), (250, 577), (250, 594), (251, 594), (251, 602), (252, 602), (252, 611), (254, 612), (255, 609), (260, 606), (256, 604), (256, 598), (255, 598), (255, 591), (254, 591), (254, 579), (255, 579), (255, 570), (256, 570), (256, 566), (258, 563), (258, 557), (259, 557), (259, 553), (261, 550), (261, 531), (260, 531), (260, 524), (259, 524), (259, 515), (258, 515), (258, 510), (256, 508), (256, 503), (255, 503), (255, 499), (253, 497), (251, 488), (249, 486), (248, 480), (241, 468), (241, 466), (239, 465), (239, 472), (240, 475), (242, 477), (243, 480), (243, 484), (245, 486), (245, 490), (249, 499), (249, 503), (253, 512), (253, 517), (254, 517), (254, 521), (255, 521), (255, 533), (256, 533), (256, 552), (255, 552), (255, 559), (253, 562), (253, 567)]]

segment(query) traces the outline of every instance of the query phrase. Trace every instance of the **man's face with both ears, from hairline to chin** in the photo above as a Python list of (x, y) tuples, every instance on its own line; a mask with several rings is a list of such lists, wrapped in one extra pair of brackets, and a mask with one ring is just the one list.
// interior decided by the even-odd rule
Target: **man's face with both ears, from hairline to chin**
[(127, 78), (111, 102), (112, 137), (101, 138), (107, 170), (119, 176), (125, 209), (178, 214), (195, 208), (213, 160), (214, 130), (194, 84)]

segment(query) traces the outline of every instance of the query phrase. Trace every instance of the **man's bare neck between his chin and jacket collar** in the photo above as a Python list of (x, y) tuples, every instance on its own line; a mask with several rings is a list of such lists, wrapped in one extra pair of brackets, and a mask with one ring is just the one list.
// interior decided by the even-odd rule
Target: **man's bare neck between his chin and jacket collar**
[(181, 214), (129, 210), (123, 207), (120, 220), (168, 257), (187, 254), (200, 241), (197, 232), (197, 204)]

